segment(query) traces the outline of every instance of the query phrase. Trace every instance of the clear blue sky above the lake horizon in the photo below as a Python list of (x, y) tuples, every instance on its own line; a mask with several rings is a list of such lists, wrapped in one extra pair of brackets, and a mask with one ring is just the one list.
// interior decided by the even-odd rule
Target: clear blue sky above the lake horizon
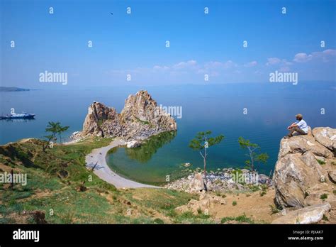
[(275, 70), (335, 81), (335, 13), (323, 0), (1, 0), (1, 85), (43, 87), (45, 70), (70, 87), (268, 82)]

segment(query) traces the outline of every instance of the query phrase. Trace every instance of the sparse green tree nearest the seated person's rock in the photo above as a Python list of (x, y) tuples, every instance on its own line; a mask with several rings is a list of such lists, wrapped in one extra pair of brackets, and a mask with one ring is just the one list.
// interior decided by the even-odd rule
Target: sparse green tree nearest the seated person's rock
[(245, 164), (247, 165), (247, 168), (252, 170), (252, 172), (255, 171), (254, 164), (255, 163), (267, 163), (267, 160), (269, 159), (269, 155), (267, 153), (260, 153), (261, 148), (258, 144), (251, 143), (250, 140), (245, 140), (240, 136), (238, 138), (239, 146), (242, 149), (248, 150), (248, 153), (246, 154), (250, 159), (245, 160)]

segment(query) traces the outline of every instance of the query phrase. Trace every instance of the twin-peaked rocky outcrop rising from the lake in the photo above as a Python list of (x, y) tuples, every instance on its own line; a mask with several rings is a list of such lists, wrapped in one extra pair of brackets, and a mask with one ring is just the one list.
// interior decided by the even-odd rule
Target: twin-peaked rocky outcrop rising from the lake
[(125, 100), (121, 114), (114, 108), (94, 101), (89, 106), (82, 136), (143, 140), (157, 133), (176, 130), (174, 118), (157, 106), (147, 91), (140, 91)]

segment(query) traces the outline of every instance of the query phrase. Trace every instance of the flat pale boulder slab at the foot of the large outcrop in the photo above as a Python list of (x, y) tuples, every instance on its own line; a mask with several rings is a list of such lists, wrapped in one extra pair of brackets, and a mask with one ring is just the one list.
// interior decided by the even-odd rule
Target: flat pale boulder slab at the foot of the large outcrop
[(323, 214), (330, 211), (329, 203), (315, 204), (313, 206), (297, 209), (275, 219), (272, 224), (313, 224), (323, 218)]

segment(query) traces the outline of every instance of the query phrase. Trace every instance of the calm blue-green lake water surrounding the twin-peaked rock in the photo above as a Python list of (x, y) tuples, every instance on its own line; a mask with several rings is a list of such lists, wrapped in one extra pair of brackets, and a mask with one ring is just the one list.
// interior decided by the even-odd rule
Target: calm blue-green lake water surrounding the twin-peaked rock
[[(191, 169), (201, 168), (203, 160), (188, 147), (198, 131), (213, 131), (225, 139), (208, 149), (208, 170), (243, 168), (246, 160), (237, 139), (242, 136), (259, 144), (269, 155), (267, 165), (257, 170), (269, 174), (276, 163), (279, 142), (295, 121), (295, 114), (303, 114), (309, 126), (336, 127), (335, 83), (292, 84), (222, 84), (185, 85), (174, 87), (106, 87), (99, 89), (36, 90), (29, 92), (1, 92), (1, 114), (35, 113), (35, 120), (0, 121), (0, 143), (21, 138), (42, 138), (48, 121), (60, 121), (70, 126), (65, 136), (82, 129), (87, 108), (92, 101), (101, 101), (118, 111), (123, 109), (129, 94), (147, 89), (162, 106), (181, 106), (182, 117), (177, 119), (177, 133), (162, 134), (147, 141), (141, 148), (115, 148), (106, 158), (119, 174), (150, 184), (160, 184), (166, 176), (179, 177), (182, 163)], [(243, 114), (243, 109), (247, 114)], [(321, 114), (321, 109), (325, 114)]]

